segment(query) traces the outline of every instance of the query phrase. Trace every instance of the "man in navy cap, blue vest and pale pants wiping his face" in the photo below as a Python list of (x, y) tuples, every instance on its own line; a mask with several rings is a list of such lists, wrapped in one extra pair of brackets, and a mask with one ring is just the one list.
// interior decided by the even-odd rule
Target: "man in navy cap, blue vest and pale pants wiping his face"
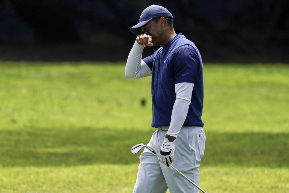
[[(130, 30), (136, 37), (129, 53), (125, 76), (151, 78), (152, 127), (157, 128), (140, 155), (134, 193), (197, 193), (198, 189), (169, 167), (169, 163), (199, 184), (199, 162), (206, 136), (201, 120), (204, 98), (203, 64), (197, 47), (173, 28), (172, 14), (151, 5)], [(146, 46), (161, 46), (141, 59)]]

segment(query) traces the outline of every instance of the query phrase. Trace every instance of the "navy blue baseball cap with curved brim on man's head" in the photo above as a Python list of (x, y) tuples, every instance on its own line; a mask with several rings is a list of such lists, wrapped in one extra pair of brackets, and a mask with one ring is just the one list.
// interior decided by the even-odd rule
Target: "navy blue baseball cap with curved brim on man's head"
[(172, 17), (172, 14), (164, 7), (160, 5), (151, 5), (141, 12), (141, 17), (139, 17), (138, 24), (130, 28), (132, 33), (141, 32), (141, 26), (147, 24), (151, 19), (159, 17)]

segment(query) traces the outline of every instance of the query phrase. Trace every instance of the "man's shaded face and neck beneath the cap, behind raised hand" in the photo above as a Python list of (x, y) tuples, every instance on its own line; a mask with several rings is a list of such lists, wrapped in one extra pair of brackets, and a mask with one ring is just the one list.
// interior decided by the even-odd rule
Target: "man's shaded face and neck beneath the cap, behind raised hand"
[(147, 24), (141, 27), (141, 30), (143, 33), (148, 33), (152, 37), (152, 43), (154, 46), (160, 45), (160, 34), (161, 34), (161, 27), (159, 21), (155, 21), (155, 19), (152, 19)]

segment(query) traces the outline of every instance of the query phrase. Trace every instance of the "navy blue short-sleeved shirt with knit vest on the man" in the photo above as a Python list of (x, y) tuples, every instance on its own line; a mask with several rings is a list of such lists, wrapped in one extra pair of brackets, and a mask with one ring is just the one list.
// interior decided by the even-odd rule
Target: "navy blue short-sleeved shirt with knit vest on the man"
[(143, 59), (152, 70), (152, 127), (169, 126), (176, 100), (175, 84), (194, 83), (188, 115), (183, 126), (204, 126), (203, 63), (197, 47), (181, 33)]

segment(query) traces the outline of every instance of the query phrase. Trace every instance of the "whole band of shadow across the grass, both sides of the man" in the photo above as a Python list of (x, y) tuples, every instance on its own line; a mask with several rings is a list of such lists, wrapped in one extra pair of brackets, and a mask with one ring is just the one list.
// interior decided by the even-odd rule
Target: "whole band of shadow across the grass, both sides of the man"
[[(148, 131), (55, 128), (0, 131), (2, 166), (75, 166), (138, 163), (133, 145), (148, 143)], [(289, 166), (289, 134), (207, 132), (202, 166)]]

